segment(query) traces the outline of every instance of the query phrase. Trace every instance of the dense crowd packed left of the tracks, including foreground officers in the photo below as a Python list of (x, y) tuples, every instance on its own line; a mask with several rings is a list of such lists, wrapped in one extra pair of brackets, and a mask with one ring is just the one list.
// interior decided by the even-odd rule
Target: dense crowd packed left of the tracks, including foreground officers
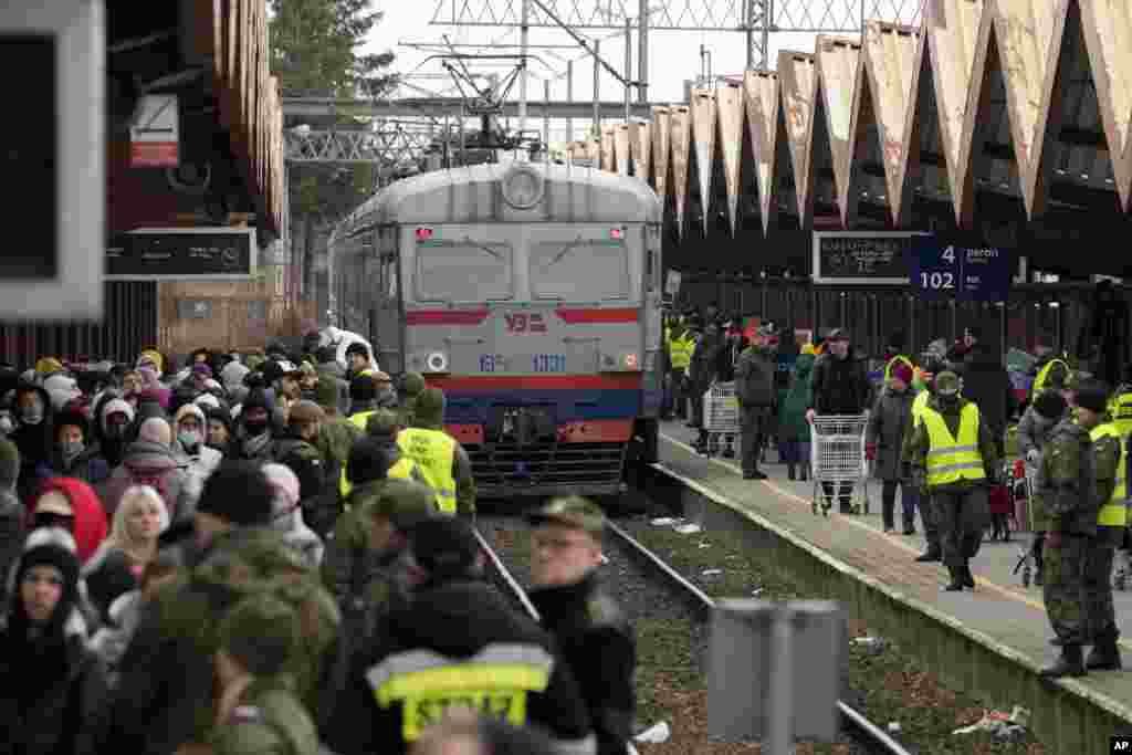
[(626, 753), (601, 509), (530, 515), (537, 624), (444, 393), (309, 345), (0, 367), (0, 755)]

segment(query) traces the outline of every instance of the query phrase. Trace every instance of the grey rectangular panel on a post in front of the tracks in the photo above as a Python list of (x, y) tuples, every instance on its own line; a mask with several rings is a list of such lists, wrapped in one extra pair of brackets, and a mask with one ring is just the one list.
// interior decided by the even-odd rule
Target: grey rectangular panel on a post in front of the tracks
[(844, 617), (830, 601), (721, 600), (712, 616), (707, 731), (762, 740), (788, 755), (797, 740), (834, 741)]

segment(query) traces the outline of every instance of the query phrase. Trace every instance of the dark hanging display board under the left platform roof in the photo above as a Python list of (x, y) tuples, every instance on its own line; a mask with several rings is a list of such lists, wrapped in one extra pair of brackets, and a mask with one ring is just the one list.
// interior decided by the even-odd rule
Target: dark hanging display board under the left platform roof
[(246, 281), (256, 271), (255, 229), (138, 229), (106, 246), (108, 281)]

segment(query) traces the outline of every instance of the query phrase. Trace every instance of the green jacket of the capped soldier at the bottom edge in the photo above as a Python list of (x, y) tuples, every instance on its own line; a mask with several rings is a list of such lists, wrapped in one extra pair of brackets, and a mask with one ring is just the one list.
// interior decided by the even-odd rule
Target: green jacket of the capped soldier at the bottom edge
[(214, 755), (317, 755), (318, 732), (284, 676), (254, 681), (211, 744)]

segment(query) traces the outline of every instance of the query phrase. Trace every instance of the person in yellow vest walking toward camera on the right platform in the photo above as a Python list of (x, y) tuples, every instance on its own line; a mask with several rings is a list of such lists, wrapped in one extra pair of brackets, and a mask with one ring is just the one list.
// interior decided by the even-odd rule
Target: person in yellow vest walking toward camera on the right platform
[(949, 592), (975, 587), (970, 560), (978, 554), (989, 516), (987, 483), (997, 477), (998, 449), (979, 407), (959, 395), (959, 376), (935, 378), (935, 393), (912, 422), (908, 460), (921, 495), (938, 517)]

